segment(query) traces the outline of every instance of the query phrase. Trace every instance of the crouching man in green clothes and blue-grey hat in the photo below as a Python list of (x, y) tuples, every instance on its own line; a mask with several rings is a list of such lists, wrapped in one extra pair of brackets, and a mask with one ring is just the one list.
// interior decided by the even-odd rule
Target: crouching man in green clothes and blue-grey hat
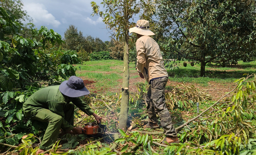
[(23, 104), (24, 114), (31, 119), (48, 122), (37, 155), (51, 148), (61, 128), (64, 132), (62, 134), (82, 134), (82, 128), (73, 126), (75, 105), (85, 114), (93, 115), (98, 123), (101, 121), (102, 117), (96, 115), (87, 103), (79, 98), (88, 94), (90, 92), (84, 86), (82, 79), (71, 76), (61, 85), (40, 89), (26, 100)]

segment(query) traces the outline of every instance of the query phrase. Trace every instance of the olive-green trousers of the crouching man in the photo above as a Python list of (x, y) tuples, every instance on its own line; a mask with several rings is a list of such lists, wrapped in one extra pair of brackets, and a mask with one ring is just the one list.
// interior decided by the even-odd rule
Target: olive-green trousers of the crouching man
[(74, 108), (75, 106), (73, 105), (73, 103), (69, 103), (63, 109), (65, 112), (65, 118), (62, 118), (60, 115), (53, 113), (49, 109), (40, 109), (40, 111), (38, 111), (37, 114), (31, 118), (41, 122), (48, 122), (48, 126), (43, 136), (43, 140), (41, 141), (41, 144), (39, 146), (39, 149), (51, 149), (52, 144), (57, 141), (63, 119), (69, 122), (70, 125), (74, 125)]

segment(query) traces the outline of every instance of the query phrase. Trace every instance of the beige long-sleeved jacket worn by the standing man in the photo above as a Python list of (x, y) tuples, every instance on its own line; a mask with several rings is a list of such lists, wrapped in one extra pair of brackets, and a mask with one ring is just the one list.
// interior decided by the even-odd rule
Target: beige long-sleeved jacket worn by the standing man
[(160, 48), (153, 38), (141, 36), (136, 41), (136, 50), (137, 71), (143, 73), (148, 83), (154, 78), (168, 77)]

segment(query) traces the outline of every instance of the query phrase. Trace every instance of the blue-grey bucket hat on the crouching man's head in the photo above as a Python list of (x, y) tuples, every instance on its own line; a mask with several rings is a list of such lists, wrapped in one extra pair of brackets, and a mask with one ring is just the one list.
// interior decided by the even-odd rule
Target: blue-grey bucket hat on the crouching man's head
[(90, 91), (84, 86), (81, 78), (70, 76), (69, 80), (63, 81), (59, 85), (59, 91), (68, 97), (80, 97), (90, 94)]

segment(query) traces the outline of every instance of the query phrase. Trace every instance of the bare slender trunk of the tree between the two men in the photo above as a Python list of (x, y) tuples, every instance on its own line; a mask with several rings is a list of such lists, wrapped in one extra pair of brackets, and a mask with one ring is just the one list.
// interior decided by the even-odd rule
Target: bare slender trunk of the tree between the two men
[(129, 105), (129, 42), (128, 31), (125, 32), (125, 47), (123, 52), (123, 84), (122, 99), (119, 115), (119, 129), (127, 130), (128, 107)]

